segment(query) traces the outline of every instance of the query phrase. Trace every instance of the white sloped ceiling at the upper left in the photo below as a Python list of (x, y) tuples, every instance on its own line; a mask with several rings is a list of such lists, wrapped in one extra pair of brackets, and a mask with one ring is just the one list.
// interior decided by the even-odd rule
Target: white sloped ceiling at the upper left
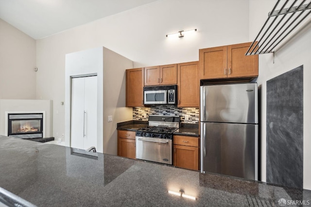
[(0, 0), (0, 18), (40, 39), (156, 0)]

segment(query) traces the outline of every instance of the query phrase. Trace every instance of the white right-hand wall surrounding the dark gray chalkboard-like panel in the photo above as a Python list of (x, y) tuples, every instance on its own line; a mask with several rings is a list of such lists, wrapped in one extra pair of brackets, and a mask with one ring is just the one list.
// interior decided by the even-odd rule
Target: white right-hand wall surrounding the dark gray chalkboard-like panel
[[(271, 0), (250, 1), (250, 40), (255, 38), (264, 21), (267, 19), (275, 2)], [(304, 68), (304, 189), (311, 189), (311, 20), (309, 24), (303, 23), (302, 29), (294, 32), (289, 40), (276, 47), (275, 63), (272, 54), (259, 55), (259, 78), (257, 82), (262, 88), (262, 115), (261, 115), (261, 154), (262, 154), (262, 180), (266, 180), (266, 82), (282, 73), (303, 65)]]

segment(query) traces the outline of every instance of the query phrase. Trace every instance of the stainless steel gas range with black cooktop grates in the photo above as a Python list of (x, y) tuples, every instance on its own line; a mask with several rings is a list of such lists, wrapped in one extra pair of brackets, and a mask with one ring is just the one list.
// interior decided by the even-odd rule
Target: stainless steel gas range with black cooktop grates
[(173, 164), (173, 132), (180, 117), (150, 115), (148, 126), (136, 131), (136, 158)]

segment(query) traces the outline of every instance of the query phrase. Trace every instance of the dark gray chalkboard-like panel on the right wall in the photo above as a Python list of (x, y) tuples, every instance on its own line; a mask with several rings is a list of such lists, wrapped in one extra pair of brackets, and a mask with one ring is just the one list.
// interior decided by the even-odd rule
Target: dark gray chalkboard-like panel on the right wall
[(267, 81), (267, 182), (303, 188), (303, 66)]

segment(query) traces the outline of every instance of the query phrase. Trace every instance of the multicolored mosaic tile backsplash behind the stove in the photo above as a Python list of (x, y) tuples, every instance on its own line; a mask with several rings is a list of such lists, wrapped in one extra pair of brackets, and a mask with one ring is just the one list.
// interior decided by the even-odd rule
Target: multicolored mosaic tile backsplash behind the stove
[[(180, 116), (181, 123), (199, 123), (199, 108), (178, 108), (175, 105), (133, 107), (133, 120), (148, 121), (149, 115)], [(188, 115), (188, 120), (185, 120)]]

